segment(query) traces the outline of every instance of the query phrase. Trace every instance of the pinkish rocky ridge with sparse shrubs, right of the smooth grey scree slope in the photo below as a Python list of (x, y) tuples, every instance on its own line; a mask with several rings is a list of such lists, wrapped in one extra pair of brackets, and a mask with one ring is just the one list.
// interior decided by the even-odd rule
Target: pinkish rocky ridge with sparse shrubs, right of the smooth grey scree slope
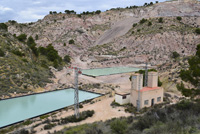
[[(159, 65), (170, 61), (173, 52), (181, 56), (192, 55), (200, 43), (200, 35), (195, 33), (196, 27), (187, 22), (195, 23), (195, 20), (196, 17), (182, 17), (181, 21), (176, 17), (144, 19), (112, 42), (90, 48), (89, 59), (106, 66), (144, 63), (146, 60)], [(85, 57), (83, 59), (87, 60)]]

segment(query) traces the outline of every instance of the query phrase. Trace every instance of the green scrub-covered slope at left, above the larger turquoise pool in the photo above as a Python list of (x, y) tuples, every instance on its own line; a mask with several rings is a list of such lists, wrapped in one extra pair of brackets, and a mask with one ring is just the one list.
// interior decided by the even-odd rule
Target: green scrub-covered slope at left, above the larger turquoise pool
[(53, 77), (47, 57), (36, 56), (25, 42), (0, 29), (0, 98), (36, 91)]

